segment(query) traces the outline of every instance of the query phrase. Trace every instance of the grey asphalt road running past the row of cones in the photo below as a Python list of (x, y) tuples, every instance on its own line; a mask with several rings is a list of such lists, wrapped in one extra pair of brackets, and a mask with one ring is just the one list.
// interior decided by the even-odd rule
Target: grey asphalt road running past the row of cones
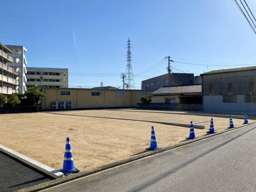
[(255, 171), (253, 124), (44, 191), (253, 192)]

